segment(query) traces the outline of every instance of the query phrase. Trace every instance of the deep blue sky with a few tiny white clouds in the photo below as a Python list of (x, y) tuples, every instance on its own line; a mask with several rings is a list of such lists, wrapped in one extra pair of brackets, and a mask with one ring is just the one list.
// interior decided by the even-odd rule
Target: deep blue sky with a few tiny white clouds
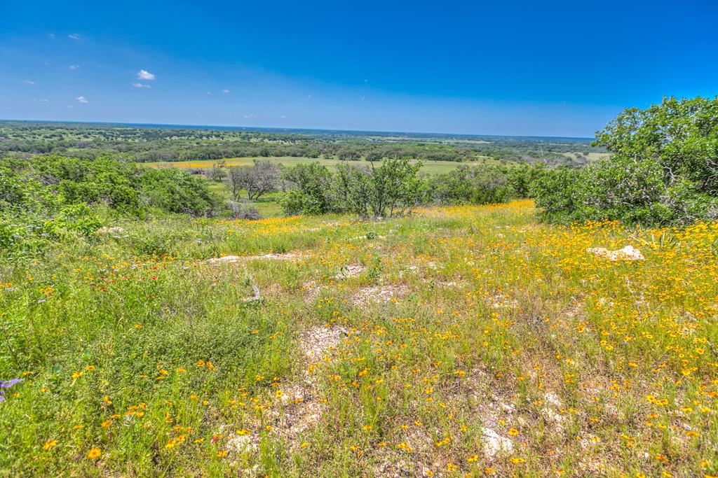
[(712, 0), (39, 0), (2, 16), (4, 119), (592, 136), (624, 107), (718, 94)]

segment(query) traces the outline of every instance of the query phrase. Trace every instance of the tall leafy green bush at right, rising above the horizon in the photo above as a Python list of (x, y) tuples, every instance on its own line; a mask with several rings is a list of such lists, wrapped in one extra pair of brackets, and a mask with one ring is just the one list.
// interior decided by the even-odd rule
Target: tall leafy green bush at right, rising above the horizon
[(533, 186), (551, 221), (687, 224), (718, 219), (718, 97), (628, 108), (597, 133), (610, 157), (547, 171)]

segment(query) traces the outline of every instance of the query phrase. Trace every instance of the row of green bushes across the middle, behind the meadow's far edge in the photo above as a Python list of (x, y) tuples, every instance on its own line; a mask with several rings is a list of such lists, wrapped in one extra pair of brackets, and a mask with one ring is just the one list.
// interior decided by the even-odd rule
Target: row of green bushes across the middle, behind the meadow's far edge
[(284, 214), (349, 212), (362, 218), (405, 214), (420, 204), (489, 204), (528, 197), (546, 168), (467, 166), (420, 176), (421, 163), (387, 159), (381, 166), (343, 163), (332, 173), (320, 163), (299, 164), (282, 177), (292, 185), (281, 196)]

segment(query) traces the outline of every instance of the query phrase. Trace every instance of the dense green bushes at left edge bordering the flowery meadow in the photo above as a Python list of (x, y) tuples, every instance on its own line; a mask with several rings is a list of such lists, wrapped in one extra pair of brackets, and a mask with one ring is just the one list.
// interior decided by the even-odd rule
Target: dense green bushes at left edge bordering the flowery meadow
[(174, 168), (137, 168), (111, 158), (0, 160), (0, 247), (11, 254), (91, 236), (107, 214), (204, 216), (218, 205), (205, 181)]

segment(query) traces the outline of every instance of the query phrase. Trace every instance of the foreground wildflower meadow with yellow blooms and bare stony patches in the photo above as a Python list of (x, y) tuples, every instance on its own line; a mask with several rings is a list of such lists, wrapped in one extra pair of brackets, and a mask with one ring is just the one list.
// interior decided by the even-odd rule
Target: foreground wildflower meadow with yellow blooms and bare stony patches
[(718, 474), (715, 223), (111, 225), (0, 265), (4, 476)]

